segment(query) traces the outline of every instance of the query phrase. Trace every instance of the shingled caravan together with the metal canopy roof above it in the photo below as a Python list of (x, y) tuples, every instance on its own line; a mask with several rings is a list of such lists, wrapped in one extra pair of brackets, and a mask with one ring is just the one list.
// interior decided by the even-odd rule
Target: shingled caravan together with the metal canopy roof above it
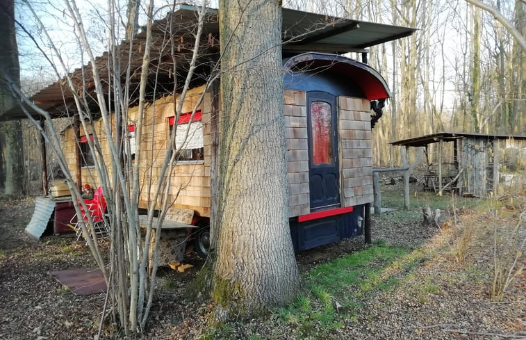
[[(183, 41), (195, 26), (197, 8), (181, 5), (173, 17), (179, 22), (172, 34)], [(210, 11), (204, 24), (202, 43), (203, 60), (213, 60), (219, 54), (217, 13)], [(156, 22), (157, 27), (169, 20)], [(154, 32), (157, 30), (154, 30)], [(161, 30), (158, 30), (161, 31)], [(360, 22), (352, 19), (327, 17), (283, 8), (283, 84), (285, 88), (284, 112), (288, 153), (288, 211), (290, 231), (297, 252), (324, 245), (340, 239), (363, 234), (372, 195), (372, 134), (371, 129), (381, 116), (381, 108), (389, 97), (386, 81), (367, 65), (368, 47), (411, 35), (413, 29), (400, 26)], [(136, 44), (145, 40), (139, 33)], [(155, 40), (155, 39), (154, 39)], [(214, 44), (215, 41), (215, 44)], [(128, 50), (123, 42), (124, 49)], [(140, 50), (140, 48), (138, 48)], [(177, 54), (190, 53), (191, 49), (175, 49)], [(170, 51), (170, 49), (169, 49)], [(352, 60), (343, 54), (354, 52), (362, 61)], [(151, 67), (161, 65), (166, 55), (152, 50)], [(101, 56), (104, 63), (108, 56)], [(183, 58), (181, 58), (183, 60)], [(201, 60), (201, 61), (203, 61)], [(126, 60), (123, 60), (125, 63)], [(132, 60), (140, 70), (140, 59)], [(104, 65), (104, 64), (101, 64)], [(180, 64), (181, 65), (181, 64)], [(206, 62), (200, 63), (206, 65)], [(184, 76), (188, 65), (170, 74), (155, 74), (156, 81), (173, 88), (173, 74)], [(80, 72), (76, 70), (75, 72)], [(210, 69), (202, 67), (198, 74)], [(192, 211), (192, 225), (199, 226), (195, 233), (198, 250), (206, 251), (206, 227), (211, 214), (211, 166), (215, 148), (211, 140), (213, 131), (220, 124), (221, 111), (218, 86), (205, 86), (204, 76), (192, 80), (192, 90), (183, 103), (183, 114), (175, 122), (174, 103), (179, 95), (158, 93), (151, 97), (142, 131), (142, 140), (135, 140), (133, 115), (136, 107), (129, 108), (130, 124), (127, 138), (130, 144), (142, 143), (142, 149), (153, 149), (160, 156), (149, 160), (134, 159), (135, 166), (145, 174), (158, 174), (167, 149), (167, 136), (171, 129), (181, 129), (186, 140), (183, 152), (174, 167), (170, 184), (174, 207)], [(206, 92), (202, 104), (194, 112), (197, 98)], [(64, 99), (64, 97), (66, 99)], [(35, 102), (55, 115), (64, 111), (64, 102), (71, 103), (72, 95), (64, 92), (60, 82), (40, 91)], [(219, 117), (213, 114), (219, 108)], [(20, 110), (13, 110), (14, 117)], [(192, 112), (194, 112), (192, 114)], [(186, 113), (186, 114), (184, 114)], [(256, 114), (256, 113), (254, 113)], [(108, 156), (101, 122), (93, 122), (92, 129), (99, 131), (102, 156)], [(63, 147), (70, 170), (79, 186), (89, 183), (98, 186), (97, 174), (92, 171), (92, 161), (87, 142), (90, 131), (71, 127), (63, 132)], [(221, 147), (220, 143), (218, 147)], [(213, 152), (213, 149), (215, 152)], [(133, 147), (131, 147), (131, 156)], [(79, 157), (79, 153), (81, 157)], [(80, 161), (78, 159), (80, 158)], [(147, 192), (140, 195), (145, 207)]]

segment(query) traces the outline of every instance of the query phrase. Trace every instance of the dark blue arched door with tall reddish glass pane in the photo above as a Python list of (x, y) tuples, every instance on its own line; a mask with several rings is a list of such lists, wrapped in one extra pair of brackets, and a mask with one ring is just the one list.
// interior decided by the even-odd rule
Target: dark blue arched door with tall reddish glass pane
[(307, 93), (311, 211), (340, 207), (336, 98)]

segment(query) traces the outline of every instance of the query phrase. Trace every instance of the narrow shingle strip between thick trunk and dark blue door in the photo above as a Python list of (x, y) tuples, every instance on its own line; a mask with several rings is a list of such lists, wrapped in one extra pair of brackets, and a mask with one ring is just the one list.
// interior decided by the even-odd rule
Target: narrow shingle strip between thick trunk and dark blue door
[(311, 212), (305, 92), (285, 90), (285, 129), (288, 154), (288, 217), (295, 217)]

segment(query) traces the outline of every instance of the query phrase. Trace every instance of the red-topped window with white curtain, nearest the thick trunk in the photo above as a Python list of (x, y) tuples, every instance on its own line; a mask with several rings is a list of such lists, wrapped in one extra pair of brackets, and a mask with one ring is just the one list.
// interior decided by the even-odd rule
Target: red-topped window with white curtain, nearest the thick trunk
[[(191, 121), (190, 121), (191, 120)], [(203, 147), (203, 116), (201, 111), (182, 113), (176, 124), (175, 147), (179, 150), (176, 161), (202, 161)], [(170, 117), (170, 133), (174, 129), (175, 118)]]

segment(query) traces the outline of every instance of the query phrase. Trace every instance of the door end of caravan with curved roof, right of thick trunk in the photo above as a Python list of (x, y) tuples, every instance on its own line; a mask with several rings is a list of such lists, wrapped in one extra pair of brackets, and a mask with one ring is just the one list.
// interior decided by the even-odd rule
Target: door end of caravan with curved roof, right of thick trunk
[(374, 69), (334, 54), (301, 54), (285, 68), (289, 222), (301, 251), (363, 234), (371, 107), (389, 91)]

